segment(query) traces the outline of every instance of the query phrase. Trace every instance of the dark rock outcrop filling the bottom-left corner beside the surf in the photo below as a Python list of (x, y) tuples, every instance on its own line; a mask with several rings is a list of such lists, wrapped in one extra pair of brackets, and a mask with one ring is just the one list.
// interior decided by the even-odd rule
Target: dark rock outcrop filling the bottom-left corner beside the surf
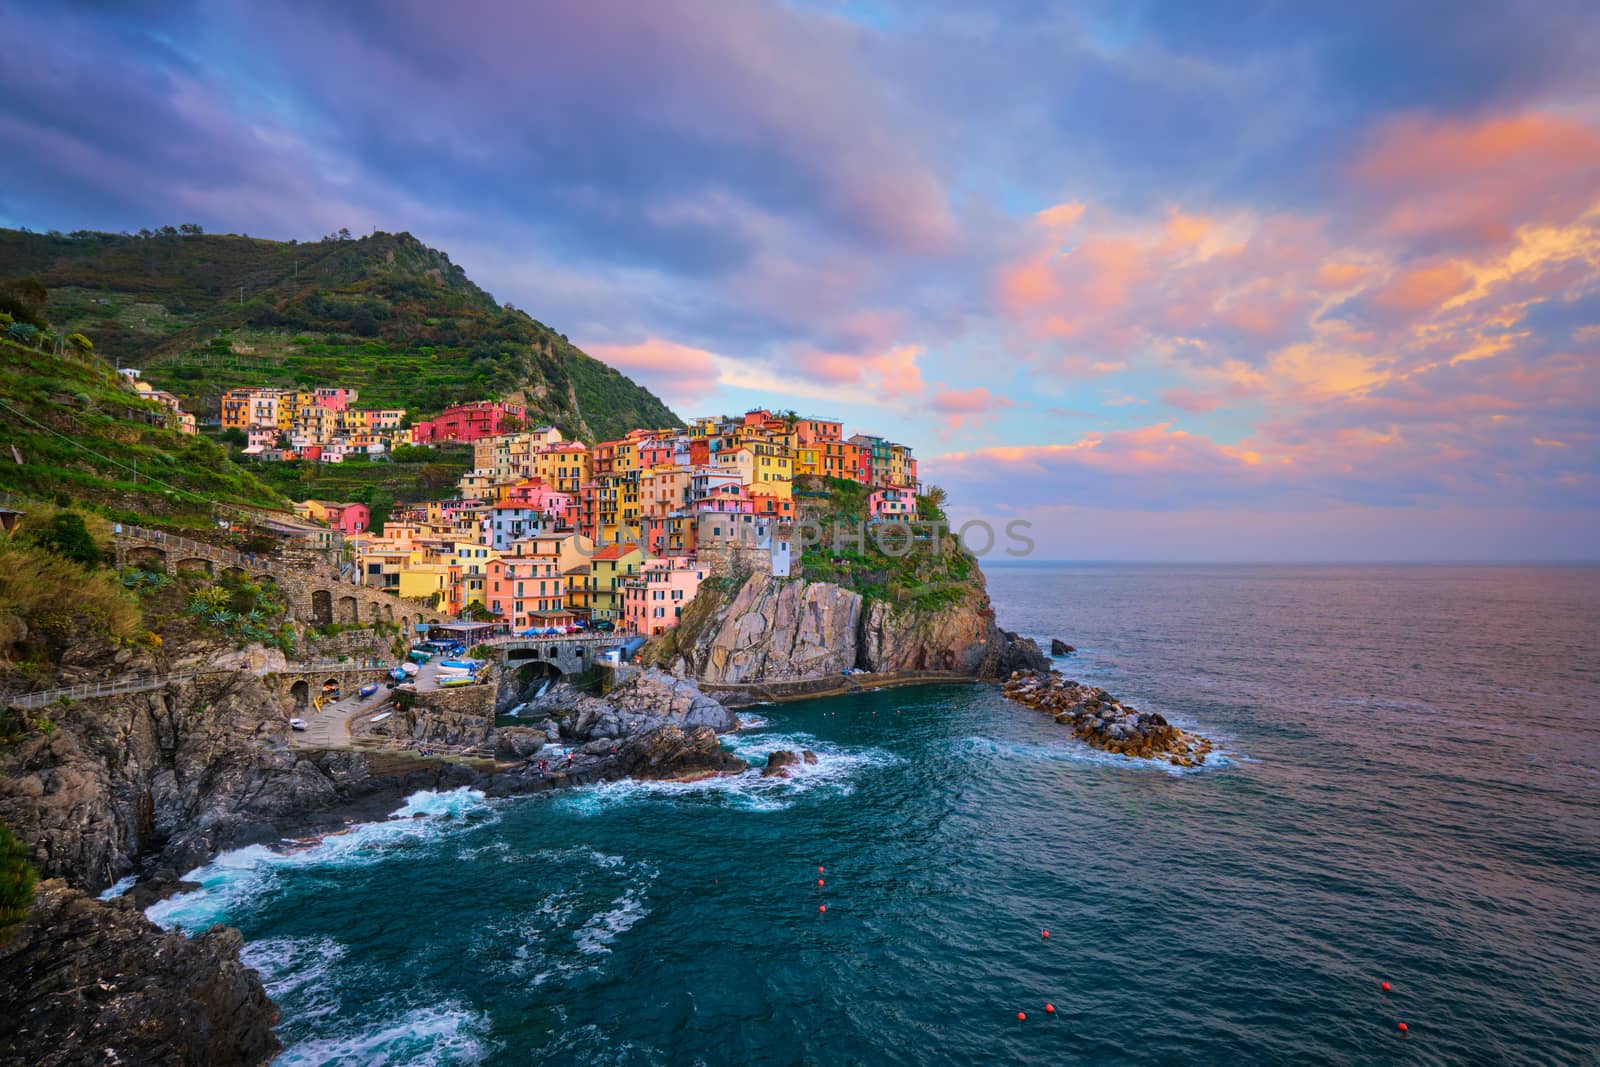
[(51, 880), (0, 942), (0, 1061), (34, 1067), (266, 1064), (278, 1013), (237, 929), (171, 934)]

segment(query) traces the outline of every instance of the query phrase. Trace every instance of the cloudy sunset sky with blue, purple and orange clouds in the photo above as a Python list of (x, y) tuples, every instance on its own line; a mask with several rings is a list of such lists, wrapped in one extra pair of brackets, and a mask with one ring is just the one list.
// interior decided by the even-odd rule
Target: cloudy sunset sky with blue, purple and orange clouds
[[(1600, 558), (1600, 13), (13, 3), (0, 226), (410, 230), (1037, 558)], [(26, 59), (22, 59), (26, 58)]]

